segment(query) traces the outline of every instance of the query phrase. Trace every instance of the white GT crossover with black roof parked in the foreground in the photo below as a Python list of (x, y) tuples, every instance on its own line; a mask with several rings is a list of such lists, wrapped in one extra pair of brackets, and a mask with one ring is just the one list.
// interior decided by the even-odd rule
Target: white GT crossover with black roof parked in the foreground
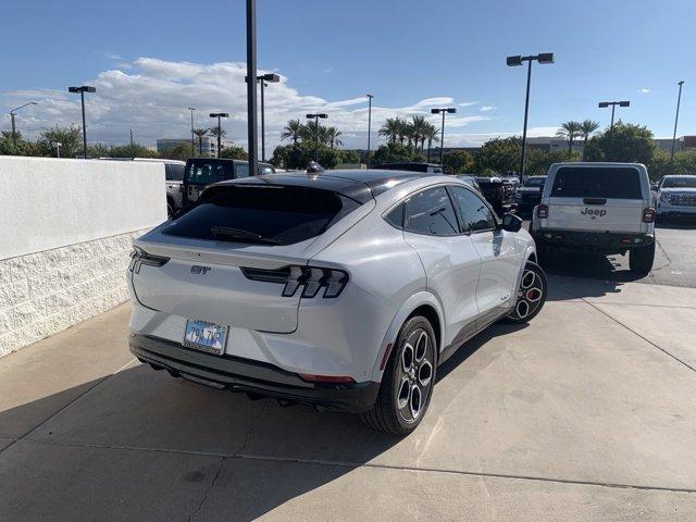
[(542, 309), (546, 277), (521, 225), (453, 176), (223, 182), (135, 240), (130, 350), (199, 384), (407, 434), (438, 364), (494, 322)]

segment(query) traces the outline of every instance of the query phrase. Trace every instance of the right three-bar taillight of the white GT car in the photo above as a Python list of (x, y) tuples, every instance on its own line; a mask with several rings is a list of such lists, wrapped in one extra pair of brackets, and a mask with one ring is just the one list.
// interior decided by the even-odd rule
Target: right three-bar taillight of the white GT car
[(302, 288), (302, 297), (312, 298), (324, 289), (322, 297), (338, 297), (348, 283), (348, 274), (343, 270), (320, 269), (316, 266), (283, 266), (276, 270), (241, 268), (248, 279), (283, 284), (283, 297), (293, 297)]

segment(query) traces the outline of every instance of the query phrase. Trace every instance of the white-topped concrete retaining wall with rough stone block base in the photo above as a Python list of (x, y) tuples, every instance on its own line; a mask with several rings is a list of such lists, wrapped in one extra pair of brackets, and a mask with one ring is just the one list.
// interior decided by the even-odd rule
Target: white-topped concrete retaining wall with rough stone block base
[(125, 301), (166, 199), (160, 163), (0, 157), (0, 186), (2, 357)]

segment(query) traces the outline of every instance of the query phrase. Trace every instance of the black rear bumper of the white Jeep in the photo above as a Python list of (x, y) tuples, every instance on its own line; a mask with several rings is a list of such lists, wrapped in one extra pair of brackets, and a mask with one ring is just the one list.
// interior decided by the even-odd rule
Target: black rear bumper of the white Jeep
[(536, 241), (564, 248), (586, 250), (623, 251), (633, 247), (650, 245), (655, 237), (650, 234), (618, 232), (579, 232), (542, 228), (535, 232)]

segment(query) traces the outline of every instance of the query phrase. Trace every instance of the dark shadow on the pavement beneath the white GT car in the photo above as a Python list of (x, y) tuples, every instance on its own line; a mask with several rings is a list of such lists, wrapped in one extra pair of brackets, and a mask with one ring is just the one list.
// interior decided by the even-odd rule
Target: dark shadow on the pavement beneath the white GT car
[[(436, 386), (523, 327), (494, 325), (464, 344)], [(0, 412), (0, 506), (13, 521), (253, 520), (401, 440), (357, 415), (254, 401), (138, 364)]]

